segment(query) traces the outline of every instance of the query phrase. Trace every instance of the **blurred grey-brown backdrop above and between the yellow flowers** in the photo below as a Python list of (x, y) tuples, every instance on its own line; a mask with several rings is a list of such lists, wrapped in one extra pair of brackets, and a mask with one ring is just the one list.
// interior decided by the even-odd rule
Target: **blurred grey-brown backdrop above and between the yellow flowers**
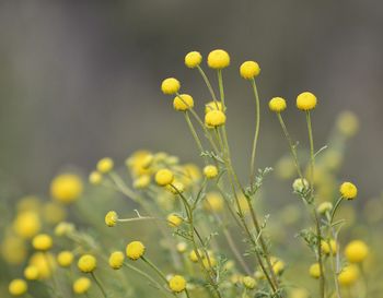
[(254, 99), (237, 68), (254, 59), (264, 108), (258, 166), (287, 152), (268, 99), (288, 99), (287, 122), (306, 142), (304, 116), (293, 105), (309, 90), (318, 97), (317, 147), (339, 111), (360, 117), (343, 175), (374, 195), (383, 178), (382, 28), (383, 2), (372, 0), (1, 1), (1, 175), (42, 192), (68, 165), (86, 174), (100, 157), (123, 163), (141, 147), (198, 160), (160, 84), (178, 78), (202, 111), (209, 94), (184, 55), (224, 48), (232, 57), (224, 80), (239, 168), (247, 174)]

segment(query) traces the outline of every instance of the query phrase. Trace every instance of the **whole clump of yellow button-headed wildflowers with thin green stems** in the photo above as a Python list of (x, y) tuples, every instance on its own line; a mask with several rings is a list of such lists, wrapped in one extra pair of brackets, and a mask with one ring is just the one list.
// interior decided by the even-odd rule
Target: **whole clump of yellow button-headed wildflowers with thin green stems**
[[(277, 257), (281, 249), (270, 237), (272, 222), (269, 215), (260, 213), (264, 182), (272, 171), (271, 167), (257, 166), (263, 100), (257, 86), (260, 67), (256, 61), (245, 61), (239, 68), (252, 91), (255, 117), (248, 178), (243, 180), (233, 165), (227, 131), (231, 103), (225, 98), (223, 74), (231, 65), (230, 55), (217, 49), (207, 57), (208, 67), (217, 75), (217, 88), (202, 69), (202, 61), (198, 51), (185, 56), (185, 65), (200, 75), (210, 96), (205, 103), (204, 116), (195, 110), (195, 106), (204, 103), (182, 93), (177, 79), (167, 78), (161, 84), (162, 93), (173, 100), (173, 108), (185, 119), (200, 165), (184, 164), (163, 152), (138, 151), (123, 167), (111, 157), (100, 159), (86, 187), (74, 174), (55, 178), (50, 191), (60, 212), (66, 214), (71, 204), (80, 208), (78, 201), (92, 193), (92, 204), (100, 203), (104, 218), (98, 216), (91, 224), (81, 223), (83, 217), (79, 216), (79, 226), (92, 228), (88, 230), (66, 222), (66, 216), (48, 224), (33, 204), (19, 211), (2, 254), (8, 262), (24, 265), (27, 282), (15, 276), (9, 283), (12, 296), (37, 296), (40, 289), (35, 293), (33, 288), (37, 287), (36, 283), (43, 283), (51, 297), (71, 297), (71, 294), (137, 297), (150, 290), (163, 297), (188, 298), (367, 297), (369, 289), (361, 276), (365, 274), (363, 264), (370, 248), (356, 239), (343, 250), (339, 240), (346, 223), (339, 210), (353, 203), (358, 189), (351, 181), (339, 183), (335, 178), (345, 142), (357, 131), (356, 117), (350, 112), (344, 115), (328, 145), (318, 147), (314, 142), (312, 115), (321, 103), (312, 92), (299, 94), (295, 106), (306, 126), (309, 146), (309, 158), (302, 158), (304, 148), (285, 122), (290, 107), (288, 100), (280, 96), (268, 100), (269, 117), (279, 122), (289, 151), (289, 156), (277, 163), (277, 175), (292, 181), (291, 192), (299, 199), (293, 204), (301, 204), (310, 219), (306, 227), (302, 228), (301, 223), (297, 230), (309, 248), (301, 254), (306, 254), (305, 260), (310, 261), (303, 274), (299, 272), (295, 279), (291, 278), (285, 273), (293, 270), (294, 264), (289, 264), (282, 255)], [(336, 187), (325, 192), (332, 183)], [(134, 216), (126, 217), (124, 211), (111, 210), (109, 201), (102, 204), (97, 198), (105, 195), (103, 190), (129, 199), (129, 206), (136, 207), (130, 210)], [(289, 212), (289, 217), (292, 214)], [(137, 225), (154, 227), (161, 241), (146, 241), (142, 233), (119, 235), (123, 228)], [(103, 237), (113, 240), (105, 241)], [(9, 257), (9, 247), (21, 257)], [(158, 258), (160, 254), (165, 257)], [(150, 285), (149, 291), (128, 282), (125, 276), (128, 273), (140, 277), (139, 285)], [(304, 275), (311, 276), (316, 286), (307, 282), (303, 288), (300, 276)], [(351, 289), (361, 296), (350, 295)]]

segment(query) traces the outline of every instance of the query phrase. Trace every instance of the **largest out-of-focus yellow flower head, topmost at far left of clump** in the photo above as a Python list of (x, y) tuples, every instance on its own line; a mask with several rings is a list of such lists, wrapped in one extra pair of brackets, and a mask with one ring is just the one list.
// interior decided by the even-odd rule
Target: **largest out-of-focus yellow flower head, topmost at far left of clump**
[(50, 183), (50, 195), (61, 202), (71, 203), (79, 199), (82, 193), (82, 180), (74, 174), (57, 176)]

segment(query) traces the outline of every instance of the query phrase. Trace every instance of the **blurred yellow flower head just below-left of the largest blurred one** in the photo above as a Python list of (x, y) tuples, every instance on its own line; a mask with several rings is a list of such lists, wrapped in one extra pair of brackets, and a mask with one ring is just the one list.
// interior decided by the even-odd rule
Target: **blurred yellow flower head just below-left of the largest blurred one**
[(35, 212), (22, 212), (13, 222), (14, 231), (22, 238), (34, 237), (42, 228), (40, 219)]

